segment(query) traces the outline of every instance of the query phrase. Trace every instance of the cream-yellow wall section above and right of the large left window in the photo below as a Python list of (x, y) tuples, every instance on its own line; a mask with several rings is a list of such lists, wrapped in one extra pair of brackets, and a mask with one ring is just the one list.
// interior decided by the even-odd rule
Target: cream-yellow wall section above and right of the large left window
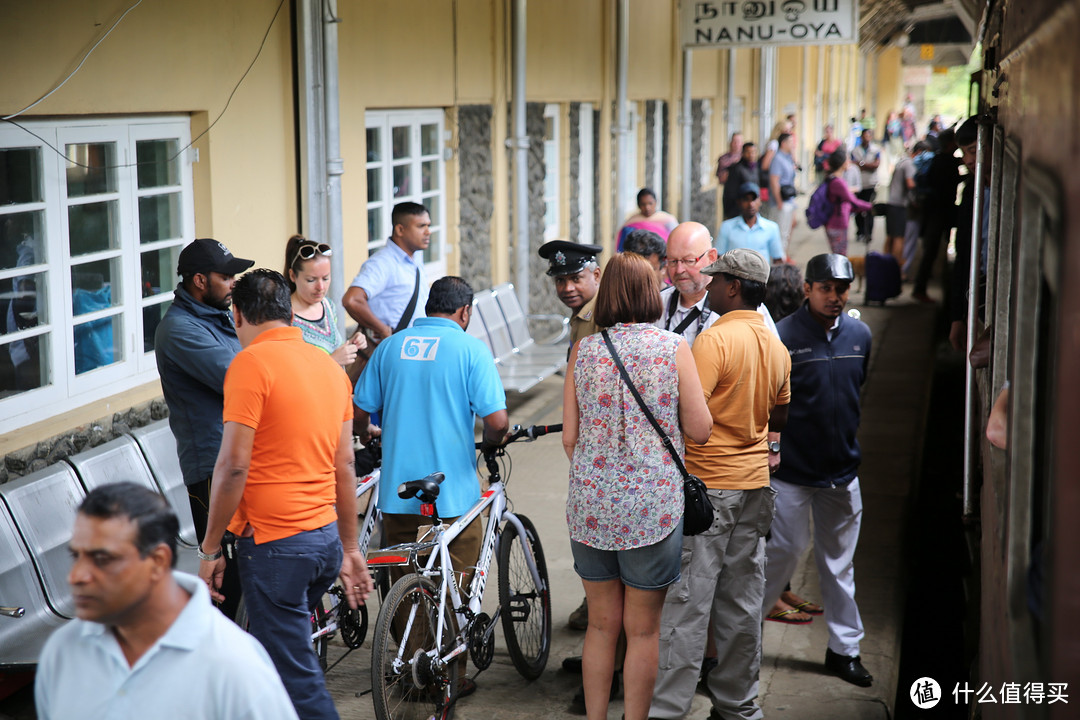
[[(78, 65), (127, 0), (4, 3), (0, 97), (12, 112)], [(192, 113), (192, 136), (225, 108), (275, 3), (145, 2), (58, 92), (22, 116)], [(281, 264), (297, 225), (288, 5), (228, 111), (195, 147), (195, 229), (258, 264)], [(212, 201), (212, 202), (211, 202)]]

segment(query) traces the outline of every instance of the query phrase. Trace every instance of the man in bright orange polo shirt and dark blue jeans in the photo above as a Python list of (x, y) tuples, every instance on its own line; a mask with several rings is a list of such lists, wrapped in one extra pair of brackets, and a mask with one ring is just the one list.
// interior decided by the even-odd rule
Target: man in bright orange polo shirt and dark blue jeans
[(281, 274), (245, 274), (232, 305), (243, 350), (225, 376), (225, 432), (199, 576), (220, 599), (228, 525), (239, 538), (252, 635), (270, 654), (297, 715), (336, 720), (309, 617), (335, 579), (352, 608), (372, 585), (356, 544), (351, 388), (341, 367), (292, 327)]

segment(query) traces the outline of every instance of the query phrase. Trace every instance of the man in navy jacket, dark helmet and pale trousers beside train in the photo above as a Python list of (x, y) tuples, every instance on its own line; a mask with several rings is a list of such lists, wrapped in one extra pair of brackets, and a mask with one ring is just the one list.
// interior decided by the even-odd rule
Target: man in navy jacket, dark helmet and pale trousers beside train
[(859, 489), (860, 391), (870, 356), (870, 329), (843, 314), (854, 277), (842, 255), (807, 263), (806, 303), (777, 324), (792, 355), (792, 403), (780, 441), (772, 487), (775, 515), (766, 546), (765, 612), (780, 597), (810, 541), (821, 574), (828, 650), (825, 667), (868, 687), (859, 642), (863, 621), (855, 604), (853, 558), (862, 524)]

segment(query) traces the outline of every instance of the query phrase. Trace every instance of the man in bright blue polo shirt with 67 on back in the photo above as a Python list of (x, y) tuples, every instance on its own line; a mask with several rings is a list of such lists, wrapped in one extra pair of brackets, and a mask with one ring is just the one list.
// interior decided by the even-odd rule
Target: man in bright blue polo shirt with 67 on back
[[(445, 473), (438, 515), (453, 521), (480, 499), (474, 418), (484, 420), (484, 443), (505, 439), (507, 396), (491, 351), (468, 335), (473, 289), (460, 277), (441, 277), (431, 286), (427, 317), (381, 342), (360, 377), (353, 402), (356, 426), (368, 427), (372, 412), (382, 413), (383, 545), (414, 542), (417, 528), (431, 522), (419, 500), (402, 500), (397, 486), (434, 472)], [(365, 434), (361, 439), (366, 440)], [(483, 527), (474, 520), (450, 543), (457, 568), (471, 568), (480, 556)], [(467, 587), (471, 571), (461, 586)], [(463, 657), (463, 656), (462, 656)], [(458, 696), (469, 694), (469, 681)]]

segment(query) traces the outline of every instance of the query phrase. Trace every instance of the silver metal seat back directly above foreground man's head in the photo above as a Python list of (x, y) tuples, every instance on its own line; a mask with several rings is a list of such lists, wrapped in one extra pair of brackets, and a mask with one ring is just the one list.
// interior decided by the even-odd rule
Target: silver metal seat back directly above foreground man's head
[[(173, 511), (177, 511), (177, 505), (174, 503), (173, 498), (158, 487), (153, 475), (150, 473), (150, 467), (143, 457), (143, 451), (130, 435), (122, 435), (96, 448), (71, 456), (67, 459), (67, 462), (71, 463), (75, 467), (79, 474), (79, 479), (82, 480), (83, 487), (86, 488), (87, 492), (108, 483), (127, 480), (137, 483), (159, 494), (163, 494)], [(180, 485), (184, 485), (183, 479), (180, 480)], [(190, 518), (191, 507), (186, 497), (180, 507), (187, 507), (187, 516)], [(177, 538), (177, 540), (180, 542), (177, 543), (176, 547), (176, 569), (192, 574), (198, 573), (199, 557), (195, 555), (194, 544), (183, 542), (183, 538)]]

